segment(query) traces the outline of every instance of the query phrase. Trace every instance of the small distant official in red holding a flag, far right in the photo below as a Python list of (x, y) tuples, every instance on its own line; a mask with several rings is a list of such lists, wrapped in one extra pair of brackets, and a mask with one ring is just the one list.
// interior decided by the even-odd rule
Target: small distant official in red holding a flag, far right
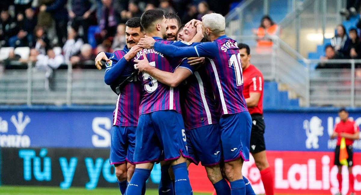
[(353, 190), (353, 174), (352, 174), (352, 166), (353, 166), (353, 150), (352, 144), (353, 140), (360, 139), (360, 129), (358, 128), (355, 121), (351, 121), (348, 119), (348, 112), (346, 109), (342, 108), (339, 111), (339, 116), (341, 121), (336, 124), (334, 133), (331, 135), (331, 139), (337, 138), (337, 146), (335, 148), (335, 165), (338, 167), (337, 180), (339, 182), (339, 195), (341, 195), (342, 190), (342, 164), (340, 163), (340, 144), (341, 139), (345, 138), (346, 149), (348, 153), (348, 180), (349, 180), (349, 194), (355, 195), (355, 190)]

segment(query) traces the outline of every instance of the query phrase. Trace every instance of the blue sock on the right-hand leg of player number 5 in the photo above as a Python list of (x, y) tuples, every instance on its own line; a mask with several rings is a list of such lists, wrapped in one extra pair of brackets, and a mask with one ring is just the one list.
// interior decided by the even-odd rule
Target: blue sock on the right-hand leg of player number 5
[(183, 162), (178, 165), (173, 165), (172, 168), (175, 177), (175, 187), (174, 187), (175, 194), (177, 195), (193, 194), (191, 183), (188, 177), (187, 163)]

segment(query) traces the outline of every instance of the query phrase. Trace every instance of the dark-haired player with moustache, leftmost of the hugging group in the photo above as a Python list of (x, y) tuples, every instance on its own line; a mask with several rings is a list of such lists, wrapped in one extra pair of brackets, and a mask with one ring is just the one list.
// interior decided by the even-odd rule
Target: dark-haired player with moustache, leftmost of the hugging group
[(133, 71), (129, 61), (141, 50), (136, 44), (144, 37), (139, 17), (129, 19), (125, 25), (127, 45), (124, 49), (114, 53), (100, 52), (95, 58), (98, 69), (101, 69), (101, 61), (106, 61), (104, 81), (112, 86), (114, 91), (120, 81), (126, 80), (124, 86), (117, 92), (109, 158), (110, 164), (115, 166), (119, 189), (123, 195), (135, 169), (133, 154), (141, 92), (138, 79), (134, 76), (129, 77)]

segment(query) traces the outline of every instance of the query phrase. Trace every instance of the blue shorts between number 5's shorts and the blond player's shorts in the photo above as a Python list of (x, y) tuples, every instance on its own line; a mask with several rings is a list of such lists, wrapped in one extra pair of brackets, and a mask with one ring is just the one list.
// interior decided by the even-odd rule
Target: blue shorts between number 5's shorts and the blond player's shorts
[(191, 161), (203, 166), (218, 165), (222, 158), (221, 129), (218, 124), (186, 130), (188, 154)]

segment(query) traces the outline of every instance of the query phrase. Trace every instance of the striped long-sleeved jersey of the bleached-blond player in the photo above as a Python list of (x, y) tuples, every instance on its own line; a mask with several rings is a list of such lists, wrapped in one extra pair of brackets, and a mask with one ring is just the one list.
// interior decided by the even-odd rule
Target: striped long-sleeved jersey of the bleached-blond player
[(194, 47), (155, 43), (154, 48), (170, 57), (208, 57), (210, 65), (206, 66), (206, 71), (221, 115), (248, 111), (243, 96), (239, 48), (235, 40), (223, 35), (213, 42), (200, 43)]

